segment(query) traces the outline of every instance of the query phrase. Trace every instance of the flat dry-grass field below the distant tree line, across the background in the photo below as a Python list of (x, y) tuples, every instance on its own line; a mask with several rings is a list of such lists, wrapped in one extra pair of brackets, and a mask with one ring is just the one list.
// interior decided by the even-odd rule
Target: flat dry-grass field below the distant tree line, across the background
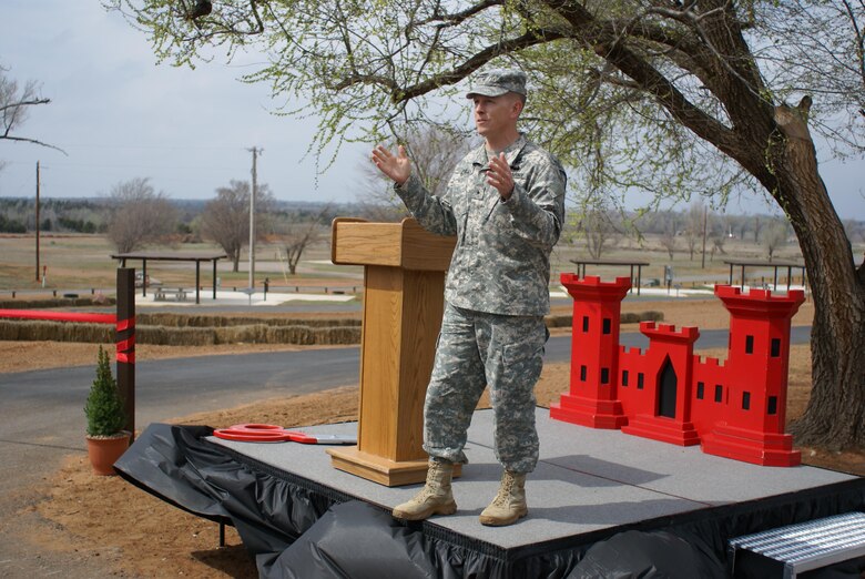
[[(660, 240), (648, 236), (641, 244), (634, 241), (621, 241), (614, 247), (604, 251), (603, 260), (648, 262), (643, 267), (643, 285), (651, 280), (663, 281), (664, 265), (672, 265), (674, 283), (682, 287), (710, 286), (713, 283), (725, 283), (729, 266), (724, 260), (765, 260), (765, 251), (753, 242), (729, 240), (724, 248), (726, 254), (715, 254), (713, 258), (706, 255), (705, 267), (702, 267), (701, 255), (694, 253), (691, 260), (684, 246), (670, 260), (668, 252), (661, 246)], [(150, 247), (153, 251), (220, 251), (212, 244), (176, 244), (171, 246)], [(41, 266), (47, 266), (44, 287), (35, 276), (35, 237), (33, 234), (0, 236), (0, 294), (6, 292), (62, 291), (89, 292), (91, 288), (109, 290), (114, 285), (114, 268), (118, 263), (110, 257), (114, 248), (102, 235), (42, 235), (40, 238), (40, 274)], [(856, 253), (858, 252), (858, 253)], [(862, 248), (854, 247), (854, 253), (861, 254)], [(271, 280), (272, 287), (301, 285), (359, 285), (363, 278), (360, 267), (337, 266), (329, 263), (329, 240), (312, 246), (304, 253), (296, 275), (288, 275), (287, 270), (278, 258), (279, 247), (262, 244), (256, 247), (256, 284), (265, 277)], [(582, 244), (569, 245), (560, 243), (552, 255), (552, 282), (556, 284), (562, 272), (574, 272), (571, 260), (587, 258)], [(798, 247), (787, 245), (775, 255), (776, 260), (802, 261)], [(141, 262), (130, 262), (131, 267), (141, 268)], [(223, 260), (217, 266), (217, 276), (222, 287), (246, 287), (248, 284), (248, 255), (243, 254), (240, 271), (232, 272), (232, 264)], [(195, 284), (195, 267), (187, 262), (149, 262), (147, 272), (163, 284), (192, 287)], [(587, 268), (588, 275), (600, 275), (603, 280), (615, 276), (628, 276), (628, 267), (596, 266)], [(786, 274), (786, 270), (783, 271)], [(208, 284), (210, 264), (202, 264), (202, 283)], [(749, 270), (749, 276), (755, 276), (752, 283), (771, 283), (771, 270)], [(734, 274), (737, 283), (739, 273)], [(780, 281), (782, 283), (782, 281)], [(783, 282), (785, 283), (785, 281)], [(794, 271), (793, 283), (801, 283), (800, 272)]]

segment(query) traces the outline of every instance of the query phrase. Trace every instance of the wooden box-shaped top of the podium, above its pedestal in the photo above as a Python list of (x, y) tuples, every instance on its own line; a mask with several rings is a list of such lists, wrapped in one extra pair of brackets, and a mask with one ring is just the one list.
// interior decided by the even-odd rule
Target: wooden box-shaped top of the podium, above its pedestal
[(337, 217), (330, 230), (330, 261), (337, 265), (381, 265), (444, 272), (450, 265), (455, 237), (427, 232), (414, 219), (374, 223)]

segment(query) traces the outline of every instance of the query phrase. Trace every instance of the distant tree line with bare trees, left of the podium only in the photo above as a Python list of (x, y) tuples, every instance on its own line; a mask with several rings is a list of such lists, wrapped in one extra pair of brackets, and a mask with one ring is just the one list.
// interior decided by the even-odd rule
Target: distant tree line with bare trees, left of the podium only
[[(118, 253), (154, 245), (210, 241), (228, 255), (238, 271), (250, 244), (250, 196), (246, 181), (217, 187), (211, 200), (171, 200), (146, 177), (114, 184), (108, 196), (86, 200), (42, 200), (40, 230), (53, 233), (104, 234)], [(349, 204), (281, 203), (267, 184), (256, 191), (256, 240), (279, 246), (279, 258), (294, 275), (304, 251), (326, 237), (337, 215), (357, 215)], [(32, 199), (0, 199), (0, 233), (35, 230)]]

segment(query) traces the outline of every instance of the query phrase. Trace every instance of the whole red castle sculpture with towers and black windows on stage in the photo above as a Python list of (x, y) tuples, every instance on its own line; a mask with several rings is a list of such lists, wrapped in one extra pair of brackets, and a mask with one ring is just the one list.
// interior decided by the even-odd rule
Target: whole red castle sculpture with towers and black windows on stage
[(562, 274), (573, 297), (570, 390), (550, 406), (558, 420), (614, 428), (764, 466), (796, 466), (784, 433), (791, 318), (804, 292), (715, 286), (730, 312), (727, 358), (694, 355), (696, 327), (642, 322), (645, 352), (619, 344), (631, 280)]

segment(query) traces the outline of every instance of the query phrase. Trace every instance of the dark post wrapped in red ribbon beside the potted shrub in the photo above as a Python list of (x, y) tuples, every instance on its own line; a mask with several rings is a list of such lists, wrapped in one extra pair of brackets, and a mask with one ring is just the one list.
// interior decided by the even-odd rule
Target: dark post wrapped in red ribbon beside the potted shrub
[(135, 270), (118, 267), (118, 389), (126, 412), (126, 430), (135, 438)]

